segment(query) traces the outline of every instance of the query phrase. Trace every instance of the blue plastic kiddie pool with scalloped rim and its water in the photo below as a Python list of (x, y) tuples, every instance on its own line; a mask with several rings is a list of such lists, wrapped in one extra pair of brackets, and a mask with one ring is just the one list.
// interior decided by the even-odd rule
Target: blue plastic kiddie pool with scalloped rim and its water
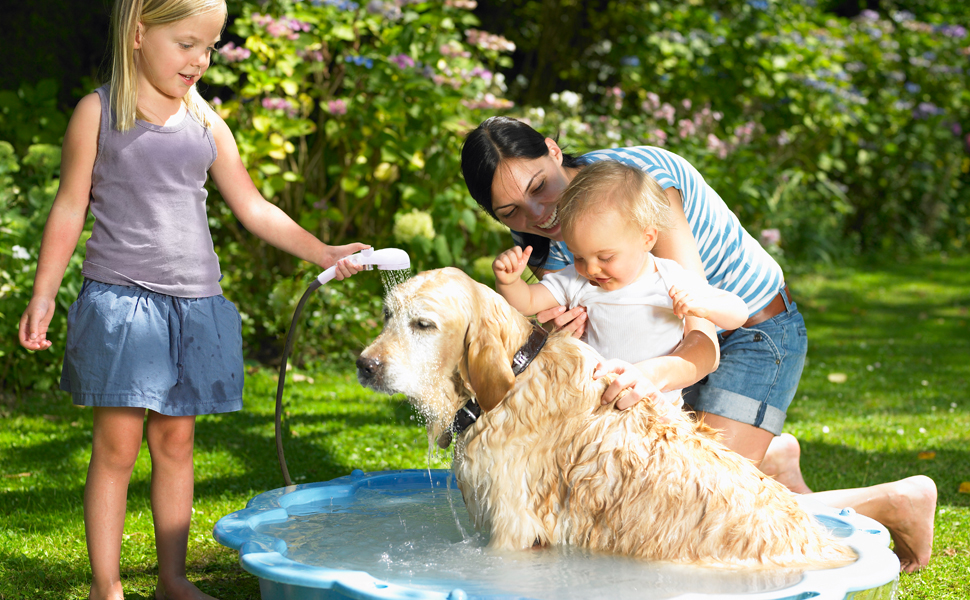
[(704, 569), (575, 548), (492, 552), (448, 470), (364, 473), (264, 492), (216, 523), (262, 600), (890, 600), (889, 532), (802, 505), (859, 555), (820, 571)]

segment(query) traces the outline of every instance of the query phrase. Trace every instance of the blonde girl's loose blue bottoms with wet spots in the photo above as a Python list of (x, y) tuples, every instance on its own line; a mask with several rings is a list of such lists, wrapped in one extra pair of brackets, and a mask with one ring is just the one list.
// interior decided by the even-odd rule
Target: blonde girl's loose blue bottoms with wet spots
[(78, 406), (239, 410), (239, 312), (221, 295), (177, 298), (87, 279), (67, 314), (61, 389)]

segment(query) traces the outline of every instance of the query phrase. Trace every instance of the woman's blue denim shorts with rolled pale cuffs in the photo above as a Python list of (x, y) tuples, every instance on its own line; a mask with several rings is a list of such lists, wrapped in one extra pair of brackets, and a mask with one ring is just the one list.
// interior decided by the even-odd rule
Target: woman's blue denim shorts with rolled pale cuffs
[(786, 310), (728, 337), (718, 334), (717, 370), (684, 390), (696, 411), (719, 415), (778, 435), (805, 367), (808, 333), (798, 306), (785, 294)]

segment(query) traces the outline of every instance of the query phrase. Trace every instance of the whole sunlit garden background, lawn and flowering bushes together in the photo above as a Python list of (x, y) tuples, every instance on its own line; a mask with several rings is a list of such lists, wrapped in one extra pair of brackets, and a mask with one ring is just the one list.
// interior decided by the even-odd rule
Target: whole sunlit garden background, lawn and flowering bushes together
[[(27, 352), (61, 144), (109, 64), (108, 3), (12, 11), (0, 68), (0, 600), (86, 598), (82, 496), (92, 416), (59, 391), (85, 232), (50, 326)], [(229, 0), (198, 89), (262, 195), (331, 245), (396, 247), (415, 271), (492, 285), (508, 228), (470, 197), (465, 134), (508, 115), (567, 152), (652, 145), (686, 158), (784, 268), (808, 364), (785, 431), (815, 490), (928, 475), (933, 558), (899, 598), (970, 595), (970, 7), (942, 0)], [(12, 26), (12, 27), (11, 27)], [(244, 409), (198, 419), (189, 579), (258, 598), (214, 523), (282, 485), (274, 396), (319, 267), (242, 227), (213, 186), (208, 224), (242, 317)], [(446, 468), (402, 398), (363, 389), (376, 274), (311, 297), (289, 358), (284, 436), (297, 483), (353, 469)], [(126, 597), (157, 577), (143, 451), (128, 493)]]

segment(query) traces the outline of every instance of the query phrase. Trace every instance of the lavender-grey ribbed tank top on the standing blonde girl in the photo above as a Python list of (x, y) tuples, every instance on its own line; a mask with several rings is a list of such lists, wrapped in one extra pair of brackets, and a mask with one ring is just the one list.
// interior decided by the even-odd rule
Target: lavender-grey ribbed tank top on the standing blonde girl
[(137, 120), (121, 133), (111, 126), (108, 86), (98, 95), (95, 221), (81, 273), (181, 298), (221, 294), (203, 187), (216, 159), (212, 132), (187, 112), (177, 125)]

